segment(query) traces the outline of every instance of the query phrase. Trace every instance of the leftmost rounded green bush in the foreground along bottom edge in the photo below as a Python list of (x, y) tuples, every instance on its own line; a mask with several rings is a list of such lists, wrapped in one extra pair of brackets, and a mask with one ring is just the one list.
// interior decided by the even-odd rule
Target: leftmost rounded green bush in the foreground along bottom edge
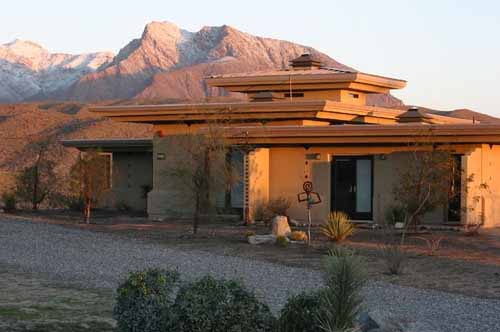
[(118, 287), (113, 317), (121, 332), (167, 331), (172, 294), (179, 280), (176, 271), (149, 269), (133, 272)]

